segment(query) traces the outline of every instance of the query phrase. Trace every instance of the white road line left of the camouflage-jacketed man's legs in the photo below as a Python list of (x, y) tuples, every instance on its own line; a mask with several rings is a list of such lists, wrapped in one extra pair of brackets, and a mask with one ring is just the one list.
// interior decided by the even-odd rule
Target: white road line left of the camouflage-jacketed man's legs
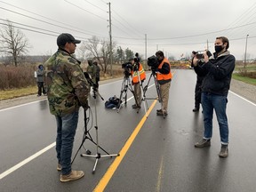
[(53, 142), (51, 145), (47, 146), (46, 148), (43, 148), (42, 150), (36, 152), (36, 154), (34, 154), (33, 156), (29, 156), (27, 159), (23, 160), (22, 162), (20, 162), (19, 164), (16, 164), (15, 166), (13, 166), (12, 168), (10, 168), (9, 170), (3, 172), (0, 174), (0, 180), (2, 180), (4, 177), (6, 177), (7, 175), (9, 175), (10, 173), (18, 170), (21, 166), (23, 166), (24, 164), (28, 164), (28, 162), (32, 161), (33, 159), (35, 159), (37, 156), (41, 156), (42, 154), (44, 154), (44, 152), (46, 152), (47, 150), (53, 148), (56, 145), (56, 142)]

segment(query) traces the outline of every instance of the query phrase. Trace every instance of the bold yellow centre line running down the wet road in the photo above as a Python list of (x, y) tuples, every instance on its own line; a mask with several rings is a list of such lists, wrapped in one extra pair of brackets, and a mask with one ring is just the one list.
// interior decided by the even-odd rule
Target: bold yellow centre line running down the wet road
[(120, 156), (116, 157), (114, 162), (108, 167), (107, 172), (103, 175), (98, 185), (93, 189), (94, 192), (100, 192), (100, 191), (103, 191), (104, 188), (106, 188), (106, 186), (108, 185), (108, 181), (112, 178), (114, 172), (116, 172), (118, 165), (121, 164), (125, 154), (127, 153), (128, 149), (131, 147), (133, 140), (135, 140), (136, 136), (140, 132), (141, 127), (147, 120), (147, 116), (150, 114), (151, 110), (155, 107), (156, 101), (157, 100), (154, 100), (150, 108), (148, 108), (147, 113), (142, 117), (142, 119), (140, 120), (140, 123), (134, 129), (130, 138), (125, 142), (124, 147), (121, 149), (119, 153)]

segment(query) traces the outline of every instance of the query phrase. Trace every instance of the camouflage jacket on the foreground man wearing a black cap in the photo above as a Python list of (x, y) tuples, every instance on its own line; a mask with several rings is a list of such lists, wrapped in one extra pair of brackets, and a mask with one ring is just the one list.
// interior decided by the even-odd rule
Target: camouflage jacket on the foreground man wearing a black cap
[(88, 107), (89, 85), (78, 61), (58, 50), (45, 62), (47, 97), (52, 115), (73, 113)]

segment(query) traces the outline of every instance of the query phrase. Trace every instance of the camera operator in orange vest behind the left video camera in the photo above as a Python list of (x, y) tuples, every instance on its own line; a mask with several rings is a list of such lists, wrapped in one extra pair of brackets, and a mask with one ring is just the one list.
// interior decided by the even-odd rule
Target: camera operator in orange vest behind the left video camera
[[(141, 89), (140, 89), (140, 83), (142, 84), (143, 81), (146, 79), (146, 73), (144, 71), (144, 68), (142, 67), (140, 63), (139, 58), (134, 58), (130, 60), (132, 63), (132, 84), (133, 84), (133, 90), (134, 90), (134, 97), (137, 100), (137, 104), (133, 104), (132, 108), (140, 108), (141, 105)], [(140, 78), (139, 78), (140, 76)]]

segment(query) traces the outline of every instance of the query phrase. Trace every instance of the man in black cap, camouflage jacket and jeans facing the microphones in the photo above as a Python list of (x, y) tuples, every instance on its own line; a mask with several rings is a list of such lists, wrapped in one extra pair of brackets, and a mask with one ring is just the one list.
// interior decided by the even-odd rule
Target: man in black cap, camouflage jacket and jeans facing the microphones
[(72, 54), (81, 41), (63, 33), (57, 38), (59, 49), (45, 62), (50, 112), (57, 121), (56, 151), (60, 181), (78, 180), (83, 171), (71, 170), (71, 156), (80, 106), (88, 108), (89, 86), (80, 61)]

